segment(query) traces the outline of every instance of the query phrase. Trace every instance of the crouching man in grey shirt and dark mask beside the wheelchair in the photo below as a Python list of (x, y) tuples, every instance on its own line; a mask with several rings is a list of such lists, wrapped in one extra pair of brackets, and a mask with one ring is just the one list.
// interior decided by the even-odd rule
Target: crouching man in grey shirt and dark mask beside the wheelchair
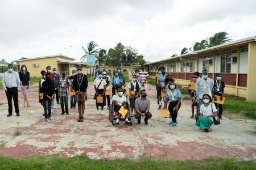
[(152, 117), (150, 113), (150, 99), (147, 97), (146, 90), (141, 90), (140, 94), (141, 97), (135, 100), (135, 118), (138, 120), (138, 124), (141, 124), (141, 117), (145, 117), (145, 125), (148, 125), (148, 119)]

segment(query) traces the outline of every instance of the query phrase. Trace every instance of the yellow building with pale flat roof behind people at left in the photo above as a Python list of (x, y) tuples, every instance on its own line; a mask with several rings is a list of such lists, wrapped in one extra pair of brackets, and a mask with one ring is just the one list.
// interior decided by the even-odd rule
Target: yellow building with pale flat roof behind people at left
[(18, 65), (18, 70), (20, 66), (26, 65), (27, 70), (30, 72), (31, 77), (40, 77), (42, 76), (40, 72), (46, 70), (47, 66), (51, 66), (52, 69), (56, 68), (57, 73), (65, 71), (67, 75), (72, 75), (72, 70), (76, 70), (77, 66), (82, 66), (82, 71), (86, 74), (86, 63), (84, 62), (74, 62), (76, 59), (63, 56), (63, 55), (53, 55), (53, 56), (44, 56), (44, 57), (35, 57), (28, 59), (18, 59), (13, 62), (16, 62)]

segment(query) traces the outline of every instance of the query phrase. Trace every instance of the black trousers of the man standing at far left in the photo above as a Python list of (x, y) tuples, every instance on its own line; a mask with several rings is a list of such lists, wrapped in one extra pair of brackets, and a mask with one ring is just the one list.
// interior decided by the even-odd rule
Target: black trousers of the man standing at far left
[(18, 99), (18, 88), (13, 87), (13, 88), (8, 88), (7, 87), (7, 100), (8, 100), (8, 112), (9, 114), (13, 114), (13, 103), (11, 102), (12, 98), (14, 101), (14, 108), (15, 108), (15, 113), (19, 113), (19, 99)]

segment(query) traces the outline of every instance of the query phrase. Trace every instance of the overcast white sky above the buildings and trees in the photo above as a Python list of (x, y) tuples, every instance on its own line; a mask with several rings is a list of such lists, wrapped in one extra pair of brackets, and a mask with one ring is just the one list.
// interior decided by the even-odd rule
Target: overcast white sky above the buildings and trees
[(195, 41), (226, 31), (256, 36), (254, 0), (0, 0), (0, 59), (54, 54), (80, 61), (81, 46), (131, 45), (147, 61), (180, 54)]

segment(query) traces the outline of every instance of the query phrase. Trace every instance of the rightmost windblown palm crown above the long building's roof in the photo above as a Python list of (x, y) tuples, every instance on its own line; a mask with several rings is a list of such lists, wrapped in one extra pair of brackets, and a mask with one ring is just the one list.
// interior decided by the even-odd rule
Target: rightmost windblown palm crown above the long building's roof
[(209, 37), (209, 45), (208, 46), (209, 47), (216, 46), (216, 45), (223, 44), (225, 42), (230, 42), (232, 39), (229, 39), (229, 37), (227, 35), (228, 35), (227, 32), (214, 33), (214, 35), (212, 37)]

